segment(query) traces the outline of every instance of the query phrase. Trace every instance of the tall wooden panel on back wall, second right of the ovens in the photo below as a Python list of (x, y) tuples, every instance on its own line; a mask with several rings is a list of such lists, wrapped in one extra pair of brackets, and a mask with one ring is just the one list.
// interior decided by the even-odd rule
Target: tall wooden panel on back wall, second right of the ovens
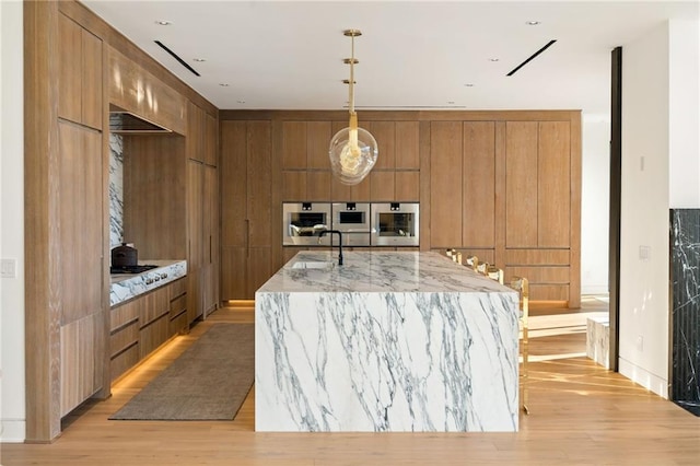
[(466, 121), (463, 135), (462, 244), (495, 247), (495, 125)]

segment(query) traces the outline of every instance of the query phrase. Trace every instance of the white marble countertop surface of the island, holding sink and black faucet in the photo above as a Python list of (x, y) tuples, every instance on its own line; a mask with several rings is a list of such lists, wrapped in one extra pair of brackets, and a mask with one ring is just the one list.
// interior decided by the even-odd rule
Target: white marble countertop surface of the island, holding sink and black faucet
[[(296, 254), (258, 292), (503, 292), (511, 291), (438, 253), (304, 251)], [(299, 263), (329, 263), (330, 268), (294, 268)]]

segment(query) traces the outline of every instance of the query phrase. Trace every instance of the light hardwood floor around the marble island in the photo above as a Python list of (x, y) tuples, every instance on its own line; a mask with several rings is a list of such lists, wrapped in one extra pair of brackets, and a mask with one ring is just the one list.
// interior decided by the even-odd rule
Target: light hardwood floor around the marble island
[[(582, 308), (533, 310), (530, 415), (517, 433), (256, 433), (252, 392), (234, 421), (109, 421), (160, 370), (217, 322), (253, 322), (222, 308), (177, 337), (113, 389), (66, 420), (50, 445), (4, 444), (15, 465), (697, 465), (700, 418), (585, 357)], [(580, 356), (584, 354), (584, 356)]]

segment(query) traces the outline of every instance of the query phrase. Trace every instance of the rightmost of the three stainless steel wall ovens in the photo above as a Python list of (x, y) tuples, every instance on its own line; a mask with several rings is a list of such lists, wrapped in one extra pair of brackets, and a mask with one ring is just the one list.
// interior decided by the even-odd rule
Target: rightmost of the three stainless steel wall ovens
[(372, 203), (373, 246), (419, 246), (419, 203)]

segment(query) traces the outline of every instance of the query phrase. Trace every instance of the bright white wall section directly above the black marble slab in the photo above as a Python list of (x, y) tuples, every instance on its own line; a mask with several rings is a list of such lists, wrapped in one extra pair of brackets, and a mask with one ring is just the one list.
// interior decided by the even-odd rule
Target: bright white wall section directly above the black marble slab
[[(672, 208), (700, 207), (700, 23), (669, 22)], [(695, 57), (695, 60), (692, 59)]]

